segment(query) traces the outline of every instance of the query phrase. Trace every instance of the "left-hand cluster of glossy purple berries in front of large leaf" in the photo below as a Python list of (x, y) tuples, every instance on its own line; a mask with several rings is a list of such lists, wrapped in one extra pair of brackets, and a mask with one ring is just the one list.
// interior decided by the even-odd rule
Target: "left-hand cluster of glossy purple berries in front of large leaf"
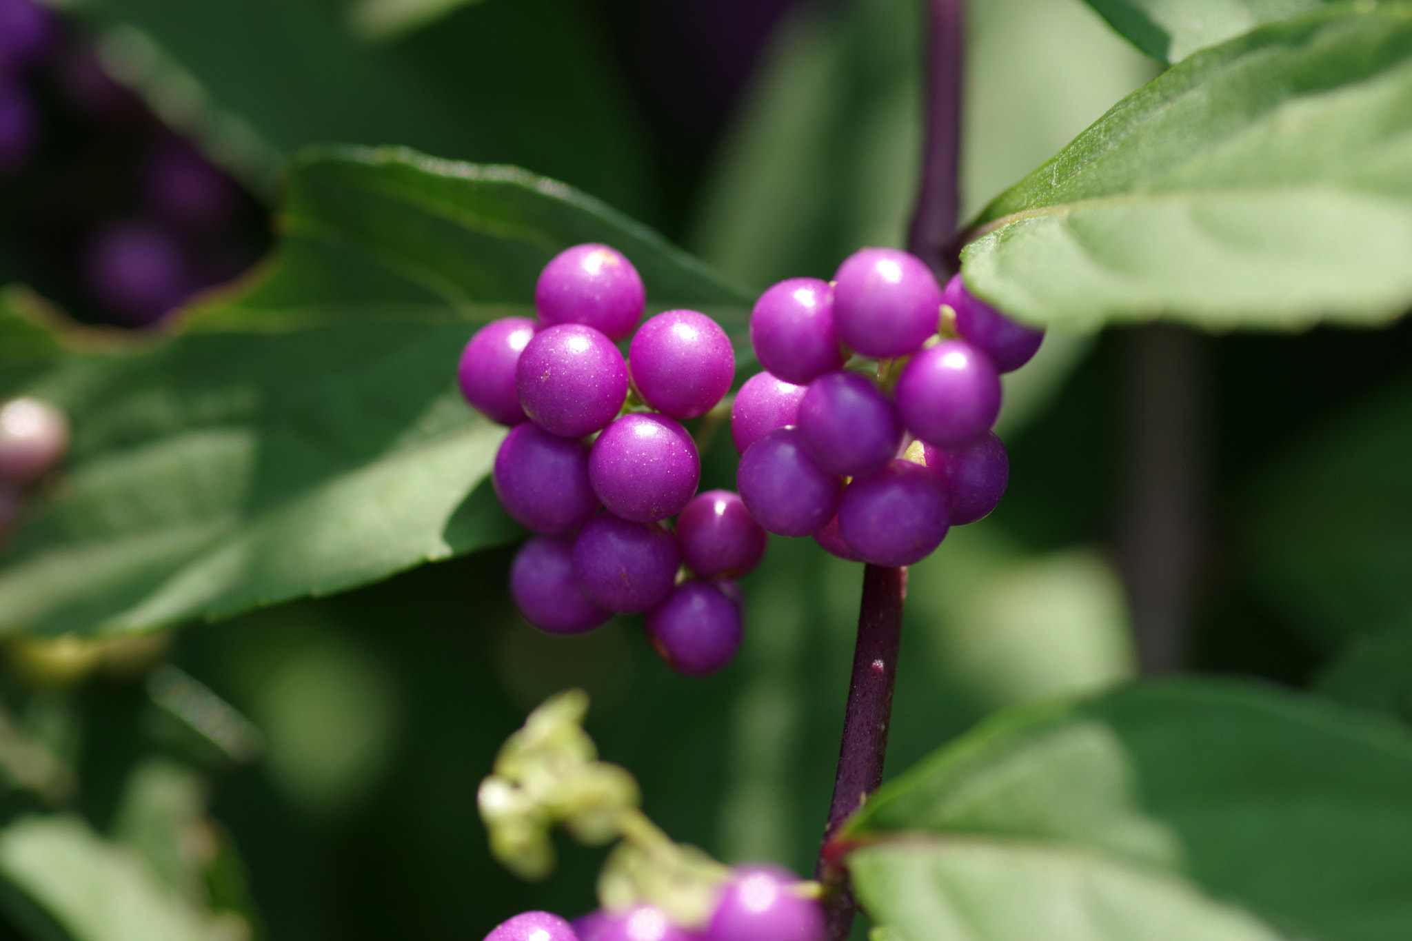
[[(729, 337), (695, 310), (637, 329), (644, 300), (620, 253), (569, 248), (539, 275), (538, 322), (505, 317), (470, 339), (460, 388), (511, 426), (493, 482), (505, 511), (538, 533), (510, 574), (524, 617), (579, 633), (645, 612), (662, 659), (705, 676), (740, 646), (731, 580), (755, 567), (767, 536), (736, 494), (698, 495), (700, 456), (681, 425), (730, 391)], [(628, 336), (624, 358), (616, 343)], [(695, 577), (679, 581), (683, 564)]]

